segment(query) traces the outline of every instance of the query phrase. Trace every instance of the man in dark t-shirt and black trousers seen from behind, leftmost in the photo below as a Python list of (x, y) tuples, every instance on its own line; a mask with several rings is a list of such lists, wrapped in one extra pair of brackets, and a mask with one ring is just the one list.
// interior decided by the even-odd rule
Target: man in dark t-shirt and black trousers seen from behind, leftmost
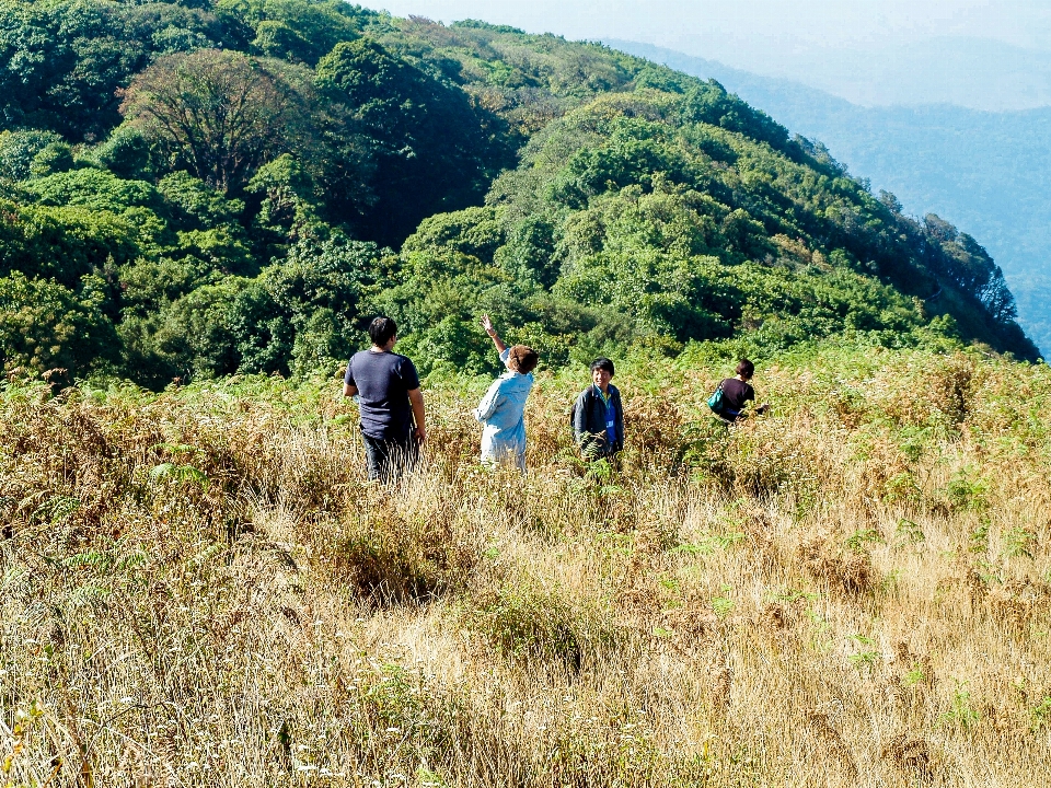
[(416, 367), (392, 352), (397, 341), (394, 321), (377, 317), (369, 338), (372, 347), (355, 354), (347, 364), (343, 395), (357, 396), (369, 478), (385, 484), (415, 464), (427, 438), (424, 395)]

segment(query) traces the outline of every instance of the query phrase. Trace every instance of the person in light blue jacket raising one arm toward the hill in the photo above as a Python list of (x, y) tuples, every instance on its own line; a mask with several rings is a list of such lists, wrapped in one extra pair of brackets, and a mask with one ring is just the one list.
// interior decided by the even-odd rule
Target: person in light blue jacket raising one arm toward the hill
[(516, 465), (526, 471), (526, 397), (533, 387), (533, 370), (540, 357), (531, 347), (507, 347), (493, 321), (482, 315), (482, 327), (493, 339), (507, 371), (493, 381), (474, 417), (484, 425), (482, 462), (486, 465)]

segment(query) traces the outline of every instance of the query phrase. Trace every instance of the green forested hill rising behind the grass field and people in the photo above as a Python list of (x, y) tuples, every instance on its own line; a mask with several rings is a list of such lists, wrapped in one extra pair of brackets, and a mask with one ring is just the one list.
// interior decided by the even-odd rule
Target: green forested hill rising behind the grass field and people
[(336, 0), (5, 0), (0, 53), (9, 370), (304, 373), (380, 310), (425, 370), (489, 367), (481, 310), (553, 364), (841, 332), (1037, 355), (977, 241), (601, 45)]

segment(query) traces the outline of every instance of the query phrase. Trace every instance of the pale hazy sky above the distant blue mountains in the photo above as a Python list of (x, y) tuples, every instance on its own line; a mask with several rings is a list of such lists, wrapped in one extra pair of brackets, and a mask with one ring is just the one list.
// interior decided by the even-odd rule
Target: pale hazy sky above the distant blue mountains
[(863, 104), (1051, 104), (1051, 0), (366, 0), (399, 16), (482, 19), (656, 44)]

